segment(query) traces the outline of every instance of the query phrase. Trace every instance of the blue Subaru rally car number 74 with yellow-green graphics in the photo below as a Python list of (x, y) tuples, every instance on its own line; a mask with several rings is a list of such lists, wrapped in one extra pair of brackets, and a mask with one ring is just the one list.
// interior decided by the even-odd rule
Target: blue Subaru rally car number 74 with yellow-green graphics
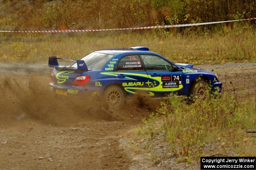
[[(74, 61), (59, 66), (58, 59)], [(147, 47), (101, 49), (80, 60), (49, 57), (50, 90), (61, 95), (100, 94), (112, 106), (123, 104), (131, 94), (163, 97), (177, 93), (206, 97), (207, 86), (220, 94), (222, 83), (216, 74), (193, 68), (193, 64), (174, 64)]]

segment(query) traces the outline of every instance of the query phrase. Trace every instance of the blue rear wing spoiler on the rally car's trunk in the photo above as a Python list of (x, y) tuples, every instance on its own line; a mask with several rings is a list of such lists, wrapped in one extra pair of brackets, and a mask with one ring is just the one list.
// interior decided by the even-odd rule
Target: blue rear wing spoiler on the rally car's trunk
[[(63, 59), (63, 60), (67, 60), (67, 61), (74, 61), (77, 64), (77, 68), (76, 67), (59, 66), (58, 59)], [(54, 68), (65, 68), (67, 70), (88, 71), (88, 67), (86, 66), (86, 64), (83, 60), (72, 60), (72, 59), (68, 59), (68, 58), (60, 58), (60, 57), (54, 57), (54, 56), (49, 57), (48, 66), (49, 67), (54, 67)]]

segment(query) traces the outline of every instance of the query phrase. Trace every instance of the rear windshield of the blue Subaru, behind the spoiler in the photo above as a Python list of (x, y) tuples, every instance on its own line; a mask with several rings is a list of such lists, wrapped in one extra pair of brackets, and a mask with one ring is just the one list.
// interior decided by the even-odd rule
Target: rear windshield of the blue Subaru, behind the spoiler
[[(99, 53), (99, 52), (92, 52), (80, 60), (83, 60), (91, 70), (100, 70), (107, 62), (113, 58), (114, 55)], [(77, 67), (77, 63), (73, 64), (71, 67)]]

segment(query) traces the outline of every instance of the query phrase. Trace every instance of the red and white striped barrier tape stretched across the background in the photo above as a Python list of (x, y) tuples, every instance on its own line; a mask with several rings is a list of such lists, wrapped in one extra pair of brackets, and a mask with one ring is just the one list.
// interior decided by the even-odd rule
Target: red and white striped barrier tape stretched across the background
[(195, 25), (217, 24), (217, 23), (224, 23), (224, 22), (245, 21), (245, 20), (251, 20), (251, 19), (256, 19), (256, 18), (238, 19), (238, 20), (231, 20), (231, 21), (204, 22), (204, 23), (195, 23), (195, 24), (179, 24), (179, 25), (164, 25), (164, 26), (159, 25), (159, 26), (135, 27), (135, 28), (86, 29), (86, 30), (49, 30), (49, 31), (0, 31), (0, 32), (19, 32), (19, 33), (64, 33), (64, 32), (91, 32), (91, 31), (151, 29), (151, 28), (172, 28), (172, 27), (186, 27), (186, 26), (195, 26)]

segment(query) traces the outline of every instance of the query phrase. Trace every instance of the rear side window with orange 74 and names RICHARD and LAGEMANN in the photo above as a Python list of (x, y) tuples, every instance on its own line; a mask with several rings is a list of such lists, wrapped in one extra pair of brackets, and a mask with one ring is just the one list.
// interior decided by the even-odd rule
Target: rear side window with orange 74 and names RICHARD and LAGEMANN
[(127, 55), (121, 58), (117, 70), (143, 70), (139, 55)]

